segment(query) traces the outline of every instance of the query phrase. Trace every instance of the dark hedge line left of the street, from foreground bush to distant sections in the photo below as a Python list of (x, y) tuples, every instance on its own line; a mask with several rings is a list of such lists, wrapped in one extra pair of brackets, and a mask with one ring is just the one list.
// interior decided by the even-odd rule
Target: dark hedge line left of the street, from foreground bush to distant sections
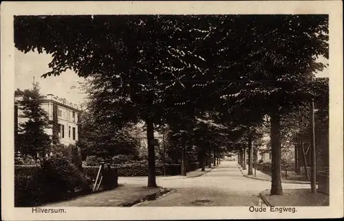
[[(88, 194), (92, 183), (96, 179), (97, 166), (85, 166), (79, 171), (64, 159), (55, 159), (54, 162), (39, 165), (15, 165), (14, 166), (14, 206), (35, 207), (46, 202), (63, 200), (73, 197), (77, 190)], [(200, 163), (189, 163), (186, 172), (197, 170)], [(180, 164), (167, 164), (166, 175), (180, 175)], [(139, 161), (125, 165), (119, 165), (118, 170), (107, 171), (103, 189), (113, 189), (118, 184), (118, 176), (147, 176), (147, 161)], [(164, 165), (155, 165), (155, 174), (164, 175)], [(109, 182), (106, 182), (109, 180)], [(110, 181), (111, 180), (111, 181)]]

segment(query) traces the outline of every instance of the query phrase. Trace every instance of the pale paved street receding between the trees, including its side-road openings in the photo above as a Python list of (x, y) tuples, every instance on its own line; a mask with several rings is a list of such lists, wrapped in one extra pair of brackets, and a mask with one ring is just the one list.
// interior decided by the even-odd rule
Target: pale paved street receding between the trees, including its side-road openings
[[(147, 178), (119, 178), (119, 183), (147, 185)], [(242, 176), (236, 163), (222, 161), (210, 172), (194, 178), (158, 177), (157, 184), (173, 188), (158, 200), (142, 202), (138, 207), (257, 206), (259, 193), (270, 189), (269, 181)], [(309, 188), (309, 185), (283, 184), (283, 188)]]

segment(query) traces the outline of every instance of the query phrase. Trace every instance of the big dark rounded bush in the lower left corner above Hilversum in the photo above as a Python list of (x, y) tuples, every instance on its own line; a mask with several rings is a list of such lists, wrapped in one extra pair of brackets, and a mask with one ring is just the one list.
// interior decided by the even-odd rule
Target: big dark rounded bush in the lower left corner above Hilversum
[(32, 207), (63, 200), (74, 196), (76, 191), (89, 191), (92, 184), (90, 178), (80, 172), (66, 157), (51, 156), (41, 163), (41, 167), (25, 169), (23, 166), (15, 169), (16, 207)]

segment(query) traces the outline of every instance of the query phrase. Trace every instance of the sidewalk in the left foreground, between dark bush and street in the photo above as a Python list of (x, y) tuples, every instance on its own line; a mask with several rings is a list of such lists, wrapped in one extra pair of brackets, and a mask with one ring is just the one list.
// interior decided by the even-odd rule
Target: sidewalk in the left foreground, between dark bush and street
[(169, 189), (147, 188), (140, 185), (120, 185), (116, 189), (101, 191), (72, 200), (54, 202), (44, 207), (131, 207), (144, 200), (153, 200), (166, 194)]

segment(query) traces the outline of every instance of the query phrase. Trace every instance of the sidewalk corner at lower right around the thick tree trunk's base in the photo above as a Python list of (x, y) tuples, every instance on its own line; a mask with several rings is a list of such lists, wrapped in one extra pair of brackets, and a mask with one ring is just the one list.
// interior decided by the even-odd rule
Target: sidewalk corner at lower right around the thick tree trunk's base
[(269, 207), (328, 207), (330, 196), (316, 193), (312, 194), (310, 189), (283, 189), (283, 195), (270, 196), (270, 189), (259, 194)]

